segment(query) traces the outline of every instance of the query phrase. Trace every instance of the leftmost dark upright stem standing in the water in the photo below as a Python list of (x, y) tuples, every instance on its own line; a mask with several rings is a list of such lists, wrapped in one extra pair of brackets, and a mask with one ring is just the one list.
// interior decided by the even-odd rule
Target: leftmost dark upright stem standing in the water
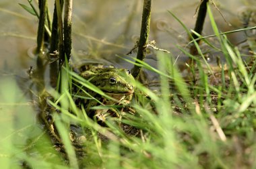
[(40, 9), (40, 15), (39, 15), (39, 23), (38, 23), (38, 32), (37, 32), (37, 47), (36, 47), (36, 53), (40, 54), (44, 48), (44, 23), (45, 23), (45, 17), (46, 17), (46, 3), (47, 0), (40, 0), (39, 1), (39, 9)]

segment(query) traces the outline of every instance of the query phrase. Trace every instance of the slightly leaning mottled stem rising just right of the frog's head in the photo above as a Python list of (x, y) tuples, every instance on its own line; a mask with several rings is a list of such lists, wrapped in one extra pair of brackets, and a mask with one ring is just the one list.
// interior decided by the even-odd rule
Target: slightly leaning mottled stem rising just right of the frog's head
[[(144, 0), (143, 12), (141, 20), (141, 32), (139, 37), (139, 48), (137, 52), (137, 59), (144, 60), (146, 56), (146, 48), (148, 44), (148, 36), (150, 34), (150, 15), (151, 15), (151, 0)], [(141, 70), (140, 66), (134, 66), (132, 75), (137, 78)]]

